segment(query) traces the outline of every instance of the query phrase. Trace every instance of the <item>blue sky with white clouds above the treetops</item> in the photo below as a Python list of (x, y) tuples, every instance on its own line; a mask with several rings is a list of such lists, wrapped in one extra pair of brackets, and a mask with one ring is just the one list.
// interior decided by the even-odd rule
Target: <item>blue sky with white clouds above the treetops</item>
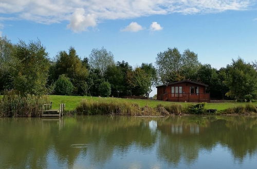
[(133, 67), (155, 64), (167, 48), (190, 49), (219, 69), (257, 59), (257, 1), (0, 0), (0, 36), (39, 38), (51, 58), (70, 46), (81, 58), (104, 47)]

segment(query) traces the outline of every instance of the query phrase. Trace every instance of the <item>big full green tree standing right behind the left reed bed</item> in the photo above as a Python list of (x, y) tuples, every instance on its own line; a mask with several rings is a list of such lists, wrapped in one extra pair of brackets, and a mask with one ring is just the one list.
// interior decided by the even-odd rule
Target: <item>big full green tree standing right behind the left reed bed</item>
[(40, 40), (28, 44), (20, 40), (15, 46), (15, 65), (13, 85), (24, 94), (42, 95), (47, 93), (49, 71), (48, 53)]

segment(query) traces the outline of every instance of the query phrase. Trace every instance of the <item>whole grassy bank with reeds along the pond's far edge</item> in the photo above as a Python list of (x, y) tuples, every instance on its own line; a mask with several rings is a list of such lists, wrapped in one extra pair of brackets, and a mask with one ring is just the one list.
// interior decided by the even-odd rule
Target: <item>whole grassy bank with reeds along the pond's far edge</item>
[[(3, 96), (1, 96), (2, 98)], [(101, 98), (88, 96), (48, 97), (19, 95), (5, 96), (0, 100), (1, 117), (38, 117), (42, 104), (51, 101), (52, 109), (59, 109), (60, 103), (66, 104), (66, 112), (84, 115), (171, 115), (171, 114), (209, 114), (208, 109), (216, 109), (216, 114), (257, 114), (257, 103), (188, 103), (147, 99)]]

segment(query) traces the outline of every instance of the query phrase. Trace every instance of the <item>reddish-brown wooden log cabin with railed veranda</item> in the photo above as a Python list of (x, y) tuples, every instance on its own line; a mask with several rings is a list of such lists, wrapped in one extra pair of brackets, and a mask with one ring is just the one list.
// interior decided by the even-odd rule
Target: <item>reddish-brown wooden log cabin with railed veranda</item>
[(157, 86), (157, 100), (182, 102), (210, 102), (208, 85), (191, 80), (182, 80)]

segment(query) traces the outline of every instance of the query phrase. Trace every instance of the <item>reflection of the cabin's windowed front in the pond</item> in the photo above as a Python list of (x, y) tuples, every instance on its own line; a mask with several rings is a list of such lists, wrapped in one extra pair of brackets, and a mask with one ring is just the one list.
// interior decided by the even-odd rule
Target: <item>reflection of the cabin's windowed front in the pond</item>
[(199, 126), (198, 125), (185, 126), (182, 124), (171, 125), (172, 134), (182, 134), (183, 132), (190, 133), (190, 134), (199, 134)]

